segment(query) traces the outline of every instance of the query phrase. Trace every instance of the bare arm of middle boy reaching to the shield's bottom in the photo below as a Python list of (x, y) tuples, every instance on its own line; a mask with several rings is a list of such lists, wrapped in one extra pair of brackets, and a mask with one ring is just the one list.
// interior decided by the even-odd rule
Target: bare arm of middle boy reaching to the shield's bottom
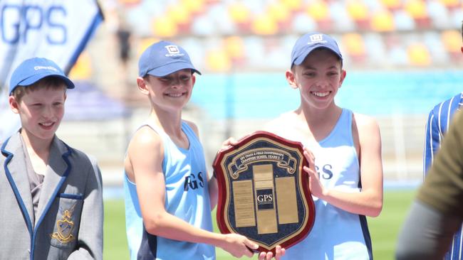
[(233, 256), (252, 256), (247, 247), (257, 244), (237, 234), (217, 234), (194, 227), (165, 210), (165, 179), (162, 173), (163, 148), (160, 137), (149, 129), (140, 129), (130, 143), (128, 156), (137, 184), (143, 223), (150, 234), (194, 243), (212, 244)]

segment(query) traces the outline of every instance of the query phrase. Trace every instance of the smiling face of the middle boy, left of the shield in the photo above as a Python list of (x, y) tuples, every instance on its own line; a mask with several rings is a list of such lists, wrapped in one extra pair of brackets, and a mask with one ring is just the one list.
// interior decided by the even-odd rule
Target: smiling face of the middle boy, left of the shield
[(179, 111), (189, 101), (195, 80), (192, 71), (185, 69), (164, 77), (139, 77), (137, 84), (140, 91), (150, 97), (153, 107)]

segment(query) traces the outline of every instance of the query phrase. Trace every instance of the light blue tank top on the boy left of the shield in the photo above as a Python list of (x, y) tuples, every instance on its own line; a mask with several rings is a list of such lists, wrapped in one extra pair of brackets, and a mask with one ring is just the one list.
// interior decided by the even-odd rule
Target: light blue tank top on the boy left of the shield
[[(196, 134), (182, 121), (182, 131), (189, 141), (189, 148), (184, 149), (177, 147), (158, 126), (142, 124), (145, 125), (160, 135), (164, 146), (165, 209), (194, 227), (212, 232), (207, 170)], [(127, 174), (124, 191), (130, 259), (215, 259), (215, 249), (209, 244), (181, 242), (147, 233), (142, 222), (137, 186)]]

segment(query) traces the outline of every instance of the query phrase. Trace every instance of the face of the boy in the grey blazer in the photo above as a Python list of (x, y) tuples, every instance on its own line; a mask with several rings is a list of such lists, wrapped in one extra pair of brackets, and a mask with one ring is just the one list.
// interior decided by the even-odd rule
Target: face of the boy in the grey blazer
[(21, 134), (26, 141), (51, 141), (64, 115), (66, 85), (25, 87), (21, 97), (9, 97), (11, 110), (21, 118)]

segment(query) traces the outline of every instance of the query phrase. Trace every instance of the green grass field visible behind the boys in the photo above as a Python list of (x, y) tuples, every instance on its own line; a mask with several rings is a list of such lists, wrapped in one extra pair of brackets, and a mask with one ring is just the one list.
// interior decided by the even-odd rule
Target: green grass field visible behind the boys
[[(383, 212), (379, 217), (368, 218), (370, 235), (373, 241), (375, 260), (394, 259), (397, 234), (408, 212), (415, 190), (386, 191)], [(213, 212), (215, 216), (215, 212)], [(215, 219), (215, 217), (213, 218)], [(217, 226), (214, 223), (217, 232)], [(125, 237), (125, 217), (123, 200), (105, 200), (104, 259), (129, 259)], [(233, 256), (217, 249), (217, 259), (234, 259)], [(246, 257), (244, 257), (246, 259)], [(257, 259), (254, 257), (253, 259)]]

